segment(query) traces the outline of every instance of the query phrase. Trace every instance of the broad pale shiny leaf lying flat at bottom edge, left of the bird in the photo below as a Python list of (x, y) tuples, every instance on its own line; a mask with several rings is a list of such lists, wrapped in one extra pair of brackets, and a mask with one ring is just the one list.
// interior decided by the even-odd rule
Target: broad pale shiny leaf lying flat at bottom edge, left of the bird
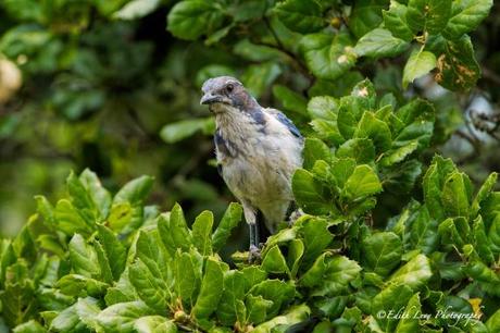
[(96, 318), (105, 332), (133, 332), (137, 319), (154, 314), (142, 301), (118, 303), (102, 310)]

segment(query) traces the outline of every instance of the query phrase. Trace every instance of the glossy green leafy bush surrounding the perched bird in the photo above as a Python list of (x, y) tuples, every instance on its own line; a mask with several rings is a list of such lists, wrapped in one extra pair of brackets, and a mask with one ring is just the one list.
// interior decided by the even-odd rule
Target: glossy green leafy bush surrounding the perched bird
[[(129, 20), (160, 5), (125, 2), (96, 9)], [(251, 63), (211, 63), (198, 84), (242, 71), (265, 98), (277, 77), (287, 83), (272, 92), (307, 136), (292, 180), (304, 214), (250, 264), (246, 252), (222, 255), (241, 221), (238, 203), (221, 219), (204, 210), (191, 221), (179, 205), (147, 205), (151, 176), (112, 195), (90, 170), (71, 173), (65, 197), (36, 197), (37, 213), (1, 240), (2, 330), (500, 331), (497, 173), (476, 186), (434, 153), (455, 130), (453, 116), (413, 86), (432, 72), (449, 90), (475, 87), (479, 65), (466, 34), (492, 2), (176, 2), (167, 15), (174, 36), (229, 47), (227, 57)], [(23, 13), (46, 24), (48, 12)], [(363, 75), (388, 57), (398, 58), (383, 75)], [(109, 98), (99, 91), (92, 100)], [(212, 128), (211, 119), (185, 119), (160, 135), (177, 143)]]

